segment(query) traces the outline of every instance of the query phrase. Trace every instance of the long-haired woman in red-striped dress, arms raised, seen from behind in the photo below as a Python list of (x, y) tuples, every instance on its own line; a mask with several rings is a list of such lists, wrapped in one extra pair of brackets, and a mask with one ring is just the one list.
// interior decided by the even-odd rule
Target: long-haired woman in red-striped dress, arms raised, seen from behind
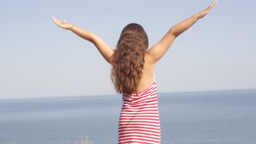
[(171, 27), (148, 51), (147, 34), (139, 24), (132, 23), (124, 27), (114, 50), (92, 32), (52, 17), (59, 27), (69, 29), (93, 43), (112, 65), (112, 83), (117, 93), (123, 96), (118, 144), (160, 144), (155, 63), (164, 56), (176, 37), (203, 18), (216, 3), (215, 0), (205, 10)]

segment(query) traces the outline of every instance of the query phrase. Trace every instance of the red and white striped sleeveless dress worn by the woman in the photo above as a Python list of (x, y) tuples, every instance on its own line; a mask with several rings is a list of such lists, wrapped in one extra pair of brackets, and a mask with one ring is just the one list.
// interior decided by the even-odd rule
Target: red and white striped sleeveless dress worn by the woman
[(118, 125), (118, 144), (160, 144), (161, 130), (154, 80), (144, 91), (123, 93)]

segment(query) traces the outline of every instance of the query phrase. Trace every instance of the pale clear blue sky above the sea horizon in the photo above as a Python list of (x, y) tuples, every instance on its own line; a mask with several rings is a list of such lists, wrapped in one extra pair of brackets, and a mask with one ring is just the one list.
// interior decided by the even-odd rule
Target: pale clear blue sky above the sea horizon
[[(141, 24), (149, 47), (212, 0), (5, 0), (0, 5), (0, 99), (115, 94), (111, 66), (94, 45), (51, 16), (115, 48), (125, 25)], [(254, 0), (218, 0), (157, 62), (158, 92), (256, 88)]]

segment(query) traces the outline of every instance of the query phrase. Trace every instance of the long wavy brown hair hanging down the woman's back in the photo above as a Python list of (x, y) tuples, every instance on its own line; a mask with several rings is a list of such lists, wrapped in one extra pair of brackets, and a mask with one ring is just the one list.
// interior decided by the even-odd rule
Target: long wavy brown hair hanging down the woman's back
[(123, 28), (111, 61), (111, 80), (117, 93), (131, 94), (136, 91), (148, 43), (141, 25), (131, 23)]

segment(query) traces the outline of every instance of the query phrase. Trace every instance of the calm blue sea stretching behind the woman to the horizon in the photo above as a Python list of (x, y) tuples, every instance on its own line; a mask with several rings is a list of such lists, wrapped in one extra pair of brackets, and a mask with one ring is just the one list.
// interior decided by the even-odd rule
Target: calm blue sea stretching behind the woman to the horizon
[[(256, 90), (159, 93), (162, 144), (256, 144)], [(117, 144), (121, 96), (0, 100), (0, 144)]]

